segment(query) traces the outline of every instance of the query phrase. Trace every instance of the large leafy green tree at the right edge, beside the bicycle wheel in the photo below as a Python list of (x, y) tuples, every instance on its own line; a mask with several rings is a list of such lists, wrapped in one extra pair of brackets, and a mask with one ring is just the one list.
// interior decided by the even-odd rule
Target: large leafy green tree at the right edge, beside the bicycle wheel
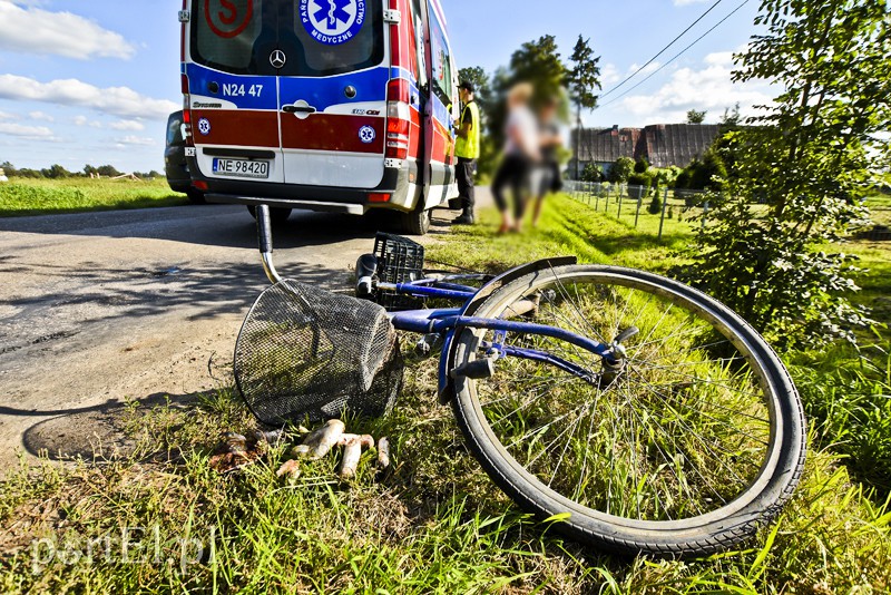
[(697, 236), (689, 280), (781, 348), (854, 342), (869, 323), (849, 300), (852, 259), (824, 246), (864, 217), (856, 198), (889, 158), (885, 10), (874, 0), (764, 0), (755, 23), (766, 31), (735, 57), (735, 81), (783, 91), (728, 134), (736, 178)]

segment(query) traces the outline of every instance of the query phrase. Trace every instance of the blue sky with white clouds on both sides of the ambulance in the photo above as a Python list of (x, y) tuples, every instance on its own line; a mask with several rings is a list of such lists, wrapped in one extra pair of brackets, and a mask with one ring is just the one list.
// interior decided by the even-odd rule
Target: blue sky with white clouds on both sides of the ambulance
[[(607, 94), (716, 0), (441, 1), (460, 67), (491, 72), (542, 35), (556, 36), (568, 58), (582, 35), (601, 57)], [(741, 2), (722, 0), (640, 75), (605, 95), (585, 125), (679, 123), (688, 109), (717, 121), (737, 101), (744, 115), (767, 103), (765, 85), (731, 81), (733, 52), (755, 32), (757, 0), (668, 62)], [(0, 0), (0, 163), (161, 170), (167, 115), (182, 107), (180, 8), (182, 0)]]

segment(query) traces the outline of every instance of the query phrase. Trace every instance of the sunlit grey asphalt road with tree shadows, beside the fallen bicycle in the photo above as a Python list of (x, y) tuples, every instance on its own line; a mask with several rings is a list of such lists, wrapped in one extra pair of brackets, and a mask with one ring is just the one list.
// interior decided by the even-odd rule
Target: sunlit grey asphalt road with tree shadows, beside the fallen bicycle
[[(434, 217), (425, 241), (448, 233), (450, 215)], [(295, 212), (275, 234), (280, 272), (349, 289), (373, 237), (360, 218)], [(0, 474), (20, 452), (114, 441), (128, 400), (225, 383), (267, 285), (255, 245), (241, 206), (0, 220)]]

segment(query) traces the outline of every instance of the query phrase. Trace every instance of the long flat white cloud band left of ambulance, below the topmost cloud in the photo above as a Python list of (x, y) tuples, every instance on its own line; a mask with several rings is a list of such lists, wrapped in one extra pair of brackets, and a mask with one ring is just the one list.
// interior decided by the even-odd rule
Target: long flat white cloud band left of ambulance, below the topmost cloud
[(16, 75), (0, 75), (0, 98), (89, 107), (123, 118), (165, 119), (180, 106), (167, 99), (144, 97), (129, 87), (100, 89), (77, 79), (40, 82)]

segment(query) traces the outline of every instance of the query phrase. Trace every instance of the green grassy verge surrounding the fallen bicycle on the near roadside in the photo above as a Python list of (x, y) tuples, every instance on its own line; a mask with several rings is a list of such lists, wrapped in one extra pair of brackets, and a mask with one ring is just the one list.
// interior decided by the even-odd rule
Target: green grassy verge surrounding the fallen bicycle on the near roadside
[[(643, 215), (642, 215), (643, 216)], [(652, 216), (650, 216), (652, 217)], [(433, 261), (499, 271), (548, 255), (656, 272), (683, 264), (686, 224), (666, 240), (635, 232), (558, 197), (541, 226), (492, 236), (497, 214), (434, 244)], [(853, 242), (864, 303), (891, 293), (891, 251)], [(371, 455), (359, 476), (334, 460), (275, 475), (274, 447), (238, 474), (209, 460), (222, 431), (253, 421), (229, 382), (159, 407), (131, 403), (120, 422), (136, 442), (125, 458), (22, 466), (0, 486), (3, 592), (245, 593), (887, 593), (891, 588), (891, 344), (887, 330), (860, 351), (787, 354), (810, 422), (802, 484), (779, 523), (745, 548), (702, 559), (609, 556), (522, 515), (469, 455), (449, 408), (435, 402), (435, 360), (411, 354), (395, 411), (351, 420), (389, 436), (393, 467)], [(130, 529), (127, 529), (127, 528)], [(138, 528), (138, 529), (134, 529)], [(129, 544), (129, 547), (125, 547)], [(123, 553), (127, 554), (125, 558)], [(89, 556), (88, 556), (89, 554)]]

